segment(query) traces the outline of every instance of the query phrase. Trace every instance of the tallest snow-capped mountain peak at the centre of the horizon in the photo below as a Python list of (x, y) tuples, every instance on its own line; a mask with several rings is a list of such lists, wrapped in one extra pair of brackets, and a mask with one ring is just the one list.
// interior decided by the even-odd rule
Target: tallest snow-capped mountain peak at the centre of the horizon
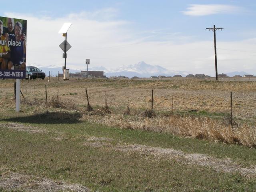
[(115, 70), (110, 70), (108, 72), (108, 76), (127, 76), (129, 78), (133, 76), (138, 77), (150, 77), (150, 76), (174, 76), (174, 75), (181, 75), (186, 76), (188, 72), (184, 71), (174, 71), (174, 70), (168, 70), (166, 68), (163, 68), (158, 65), (149, 65), (145, 62), (139, 62), (134, 65), (128, 65), (128, 66), (122, 66), (118, 67)]

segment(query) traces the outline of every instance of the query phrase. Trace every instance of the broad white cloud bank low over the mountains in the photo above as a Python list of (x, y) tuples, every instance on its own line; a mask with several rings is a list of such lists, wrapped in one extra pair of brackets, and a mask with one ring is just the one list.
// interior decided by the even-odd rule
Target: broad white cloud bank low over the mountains
[[(178, 39), (179, 34), (165, 41), (150, 41), (150, 38), (138, 37), (138, 32), (131, 30), (129, 22), (94, 20), (83, 17), (86, 13), (71, 14), (66, 18), (38, 18), (11, 13), (5, 15), (28, 20), (28, 65), (63, 66), (59, 44), (64, 41), (64, 37), (58, 31), (64, 22), (73, 22), (67, 36), (72, 46), (68, 50), (67, 68), (86, 69), (85, 59), (90, 58), (91, 67), (104, 66), (108, 69), (144, 61), (169, 70), (204, 74), (214, 74), (215, 71), (213, 41), (186, 40), (179, 43), (178, 40), (177, 43), (175, 39)], [(256, 74), (255, 44), (256, 39), (218, 41), (218, 71), (242, 71), (246, 68)]]

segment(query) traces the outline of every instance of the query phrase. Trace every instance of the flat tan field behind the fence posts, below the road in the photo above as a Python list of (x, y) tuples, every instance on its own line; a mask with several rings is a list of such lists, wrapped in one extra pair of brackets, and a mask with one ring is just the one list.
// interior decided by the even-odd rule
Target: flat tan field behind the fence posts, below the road
[[(44, 82), (44, 81), (42, 81)], [(38, 104), (45, 102), (45, 85), (22, 84), (24, 97), (30, 103)], [(129, 106), (131, 110), (150, 108), (151, 90), (154, 89), (154, 110), (156, 111), (186, 111), (186, 110), (205, 110), (208, 112), (226, 113), (230, 112), (230, 91), (233, 91), (233, 115), (238, 119), (250, 119), (255, 121), (256, 110), (255, 101), (255, 82), (208, 84), (197, 81), (152, 81), (151, 83), (131, 85), (122, 87), (122, 83), (116, 84), (116, 88), (108, 87), (104, 83), (80, 82), (79, 80), (70, 81), (70, 84), (63, 85), (63, 82), (51, 82), (48, 85), (48, 101), (53, 96), (60, 96), (69, 108), (78, 108), (78, 105), (87, 105), (85, 87), (88, 90), (89, 102), (92, 107), (95, 105), (105, 105), (105, 92), (109, 107), (122, 110), (127, 106), (129, 93)], [(125, 83), (125, 82), (124, 82)], [(126, 82), (127, 84), (129, 81)], [(34, 86), (33, 86), (34, 85)], [(119, 86), (121, 87), (119, 87)], [(186, 85), (186, 86), (185, 86)], [(70, 86), (67, 92), (67, 86)], [(177, 88), (174, 88), (176, 87)], [(12, 84), (0, 84), (1, 106), (10, 107), (14, 102)], [(173, 106), (172, 106), (173, 95)], [(22, 98), (23, 101), (23, 98)], [(24, 102), (26, 104), (26, 102)], [(27, 105), (27, 104), (26, 104)], [(12, 106), (13, 107), (13, 106)], [(68, 106), (66, 106), (68, 107)], [(23, 106), (22, 106), (23, 108)]]

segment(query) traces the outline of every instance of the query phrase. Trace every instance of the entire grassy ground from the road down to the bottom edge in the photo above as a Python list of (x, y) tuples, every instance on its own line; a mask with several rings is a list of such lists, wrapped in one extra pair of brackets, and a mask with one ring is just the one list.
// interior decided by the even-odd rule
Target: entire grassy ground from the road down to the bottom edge
[(0, 190), (256, 187), (254, 81), (52, 78), (21, 91), (15, 113), (14, 80), (0, 82)]

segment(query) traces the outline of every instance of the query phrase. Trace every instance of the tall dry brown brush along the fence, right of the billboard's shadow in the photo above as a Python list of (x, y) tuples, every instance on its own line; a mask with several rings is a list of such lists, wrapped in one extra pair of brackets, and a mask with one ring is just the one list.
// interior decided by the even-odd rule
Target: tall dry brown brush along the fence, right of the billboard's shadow
[(129, 116), (124, 118), (122, 114), (107, 114), (105, 116), (85, 114), (82, 119), (124, 129), (166, 132), (178, 136), (256, 147), (256, 129), (254, 126), (242, 124), (233, 128), (220, 120), (213, 120), (208, 117), (168, 116), (146, 118), (143, 116)]

